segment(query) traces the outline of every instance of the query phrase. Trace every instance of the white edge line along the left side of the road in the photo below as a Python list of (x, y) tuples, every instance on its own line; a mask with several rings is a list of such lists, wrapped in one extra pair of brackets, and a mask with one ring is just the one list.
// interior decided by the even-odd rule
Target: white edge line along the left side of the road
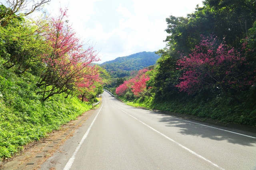
[[(103, 106), (103, 103), (102, 103), (102, 106)], [(100, 110), (102, 109), (102, 106), (100, 107)], [(68, 160), (68, 163), (66, 164), (66, 166), (64, 167), (63, 170), (69, 170), (76, 158), (76, 153), (78, 152), (78, 150), (80, 149), (81, 145), (83, 144), (84, 140), (86, 139), (86, 137), (88, 136), (89, 132), (90, 132), (90, 129), (94, 123), (94, 121), (96, 120), (98, 114), (100, 113), (100, 110), (98, 111), (96, 117), (93, 119), (90, 127), (87, 129), (86, 133), (84, 134), (83, 138), (81, 139), (81, 141), (78, 143), (78, 146), (76, 147), (76, 150), (74, 151), (74, 153), (72, 154), (71, 158)]]

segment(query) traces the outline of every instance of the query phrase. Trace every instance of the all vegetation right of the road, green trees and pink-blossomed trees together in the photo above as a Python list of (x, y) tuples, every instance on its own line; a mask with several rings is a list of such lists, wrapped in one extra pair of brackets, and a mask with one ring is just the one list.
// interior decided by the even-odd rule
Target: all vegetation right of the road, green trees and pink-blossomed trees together
[(256, 126), (256, 4), (203, 3), (187, 17), (166, 18), (156, 65), (107, 88), (131, 106)]

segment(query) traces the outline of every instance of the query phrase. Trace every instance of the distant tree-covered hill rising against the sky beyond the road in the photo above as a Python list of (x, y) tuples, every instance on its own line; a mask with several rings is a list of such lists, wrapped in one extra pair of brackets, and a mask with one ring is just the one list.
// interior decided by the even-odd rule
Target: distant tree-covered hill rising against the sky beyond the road
[[(108, 72), (118, 71), (128, 74), (127, 72), (140, 70), (144, 67), (154, 65), (159, 57), (160, 56), (156, 55), (155, 52), (144, 51), (125, 57), (118, 57), (111, 61), (106, 61), (100, 64), (100, 66), (103, 66)], [(126, 75), (122, 74), (121, 76)]]

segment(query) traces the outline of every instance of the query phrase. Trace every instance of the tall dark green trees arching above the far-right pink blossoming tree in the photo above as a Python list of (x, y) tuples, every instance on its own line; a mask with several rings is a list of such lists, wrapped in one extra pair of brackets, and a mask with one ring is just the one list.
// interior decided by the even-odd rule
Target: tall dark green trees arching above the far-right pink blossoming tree
[[(241, 39), (255, 35), (252, 28), (256, 19), (254, 0), (205, 0), (203, 4), (187, 17), (166, 18), (165, 31), (169, 34), (164, 40), (166, 48), (157, 52), (161, 58), (153, 78), (148, 82), (150, 86), (153, 84), (156, 96), (169, 96), (177, 90), (174, 85), (181, 74), (176, 70), (179, 67), (176, 61), (181, 54), (188, 56), (200, 43), (202, 35), (216, 35), (219, 42), (225, 37), (226, 44), (236, 49), (241, 47)], [(249, 43), (253, 41), (250, 38)], [(251, 46), (251, 49), (254, 48)]]

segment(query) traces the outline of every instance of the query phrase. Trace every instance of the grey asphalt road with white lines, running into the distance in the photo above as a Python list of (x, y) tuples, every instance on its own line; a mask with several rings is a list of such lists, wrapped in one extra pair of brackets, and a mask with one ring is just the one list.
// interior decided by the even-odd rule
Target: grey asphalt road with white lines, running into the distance
[[(52, 164), (51, 162), (57, 162)], [(256, 170), (256, 134), (102, 103), (41, 170)]]

